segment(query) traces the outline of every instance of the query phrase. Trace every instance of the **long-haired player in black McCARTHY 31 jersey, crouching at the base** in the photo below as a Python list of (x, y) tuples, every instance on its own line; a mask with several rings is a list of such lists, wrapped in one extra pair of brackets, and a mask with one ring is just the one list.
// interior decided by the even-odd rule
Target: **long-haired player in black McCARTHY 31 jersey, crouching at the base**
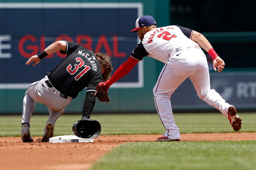
[(96, 85), (107, 81), (113, 70), (110, 58), (103, 53), (93, 54), (81, 44), (68, 41), (57, 41), (38, 55), (29, 58), (27, 65), (38, 64), (42, 58), (60, 50), (67, 54), (52, 71), (40, 81), (29, 85), (23, 100), (21, 139), (23, 142), (33, 142), (30, 135), (30, 117), (36, 102), (49, 108), (49, 119), (46, 122), (42, 141), (48, 141), (53, 136), (57, 118), (64, 113), (65, 107), (75, 99), (78, 92), (85, 87), (86, 97), (82, 119), (89, 119), (95, 105)]

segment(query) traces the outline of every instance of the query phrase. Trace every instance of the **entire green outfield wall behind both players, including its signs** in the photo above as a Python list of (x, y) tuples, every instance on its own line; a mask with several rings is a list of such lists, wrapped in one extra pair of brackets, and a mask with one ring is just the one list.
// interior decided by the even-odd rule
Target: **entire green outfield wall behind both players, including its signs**
[[(79, 38), (83, 38), (80, 35), (89, 35), (92, 45), (88, 45), (89, 41), (81, 41), (82, 44), (90, 46), (92, 50), (98, 49), (100, 44), (101, 52), (112, 54), (113, 66), (116, 70), (129, 57), (129, 53), (139, 42), (136, 34), (129, 33), (129, 30), (135, 26), (135, 20), (140, 14), (152, 15), (159, 27), (179, 25), (170, 20), (171, 2), (168, 0), (0, 0), (0, 67), (2, 68), (0, 115), (21, 114), (27, 84), (43, 78), (45, 73), (54, 68), (63, 58), (54, 55), (52, 58), (42, 60), (36, 67), (25, 66), (28, 56), (33, 54), (33, 50), (36, 53), (57, 39), (80, 41)], [(20, 3), (26, 7), (20, 7)], [(51, 7), (51, 3), (56, 6), (56, 9)], [(38, 4), (41, 6), (38, 7)], [(48, 7), (45, 7), (44, 4), (47, 4)], [(70, 6), (67, 7), (66, 4), (70, 4)], [(86, 5), (91, 7), (84, 7)], [(25, 10), (27, 8), (28, 10)], [(66, 9), (68, 9), (67, 12), (65, 12)], [(26, 17), (22, 17), (24, 15), (29, 15), (32, 18), (33, 15), (35, 16), (28, 20)], [(58, 17), (54, 18), (54, 15), (63, 18), (59, 21)], [(75, 16), (74, 20), (78, 18), (78, 21), (81, 22), (71, 27), (74, 31), (64, 28), (68, 27), (65, 25), (67, 17), (69, 17), (69, 22), (72, 22), (70, 16)], [(83, 21), (88, 21), (88, 23), (83, 25)], [(60, 33), (58, 32), (60, 27), (55, 22), (64, 22), (64, 24), (59, 24)], [(87, 28), (86, 26), (90, 23), (93, 23), (93, 26)], [(99, 31), (98, 27), (102, 23), (102, 31)], [(5, 26), (6, 24), (8, 26)], [(29, 39), (28, 34), (32, 35), (30, 36), (32, 39)], [(226, 69), (222, 73), (218, 73), (211, 70), (212, 59), (209, 59), (211, 87), (219, 92), (228, 103), (237, 108), (255, 110), (256, 67), (253, 62), (250, 63), (245, 58), (254, 57), (256, 32), (203, 34), (226, 63)], [(100, 40), (99, 37), (103, 40)], [(27, 38), (28, 41), (23, 41), (24, 38)], [(115, 41), (115, 38), (118, 41)], [(207, 57), (209, 58), (209, 56)], [(241, 64), (249, 64), (250, 67), (241, 68), (239, 66)], [(109, 89), (111, 101), (108, 104), (96, 99), (93, 113), (156, 112), (153, 87), (163, 66), (164, 63), (145, 57), (138, 67), (133, 69), (133, 72), (111, 86)], [(67, 106), (66, 113), (81, 113), (84, 98), (85, 90), (80, 92), (77, 98)], [(174, 92), (171, 102), (175, 111), (216, 111), (197, 97), (196, 91), (188, 79)], [(48, 113), (48, 108), (36, 103), (35, 113)]]

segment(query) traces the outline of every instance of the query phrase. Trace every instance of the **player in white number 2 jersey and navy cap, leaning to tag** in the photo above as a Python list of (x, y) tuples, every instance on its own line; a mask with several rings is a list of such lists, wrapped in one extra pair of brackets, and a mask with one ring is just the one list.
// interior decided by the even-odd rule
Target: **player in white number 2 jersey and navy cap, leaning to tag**
[(131, 32), (137, 32), (140, 44), (107, 82), (99, 84), (101, 88), (108, 89), (129, 73), (143, 57), (149, 56), (165, 63), (153, 89), (156, 110), (166, 129), (157, 141), (181, 139), (170, 98), (186, 78), (192, 81), (200, 99), (220, 110), (235, 131), (241, 129), (242, 119), (236, 114), (236, 108), (226, 103), (219, 93), (210, 88), (209, 69), (201, 48), (211, 55), (215, 71), (221, 72), (225, 63), (201, 33), (177, 25), (157, 28), (155, 19), (149, 15), (138, 18), (135, 26)]

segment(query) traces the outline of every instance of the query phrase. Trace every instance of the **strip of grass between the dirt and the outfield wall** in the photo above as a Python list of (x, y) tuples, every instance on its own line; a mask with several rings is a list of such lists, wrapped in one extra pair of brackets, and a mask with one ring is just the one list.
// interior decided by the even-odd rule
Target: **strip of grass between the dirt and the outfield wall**
[[(240, 132), (256, 132), (256, 114), (242, 113)], [(81, 115), (61, 115), (57, 120), (54, 136), (73, 135), (72, 126)], [(106, 114), (92, 115), (101, 124), (101, 135), (162, 134), (165, 129), (157, 114)], [(225, 116), (220, 114), (174, 114), (180, 133), (234, 132)], [(42, 136), (47, 115), (32, 115), (32, 136)], [(0, 137), (20, 136), (20, 116), (0, 116)]]

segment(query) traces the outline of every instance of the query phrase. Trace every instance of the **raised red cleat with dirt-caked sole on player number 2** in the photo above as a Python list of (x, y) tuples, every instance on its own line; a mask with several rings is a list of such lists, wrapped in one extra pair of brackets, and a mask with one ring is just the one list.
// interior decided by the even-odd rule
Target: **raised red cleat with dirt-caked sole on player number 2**
[(242, 119), (236, 114), (236, 107), (231, 106), (228, 108), (228, 120), (235, 131), (241, 129)]

